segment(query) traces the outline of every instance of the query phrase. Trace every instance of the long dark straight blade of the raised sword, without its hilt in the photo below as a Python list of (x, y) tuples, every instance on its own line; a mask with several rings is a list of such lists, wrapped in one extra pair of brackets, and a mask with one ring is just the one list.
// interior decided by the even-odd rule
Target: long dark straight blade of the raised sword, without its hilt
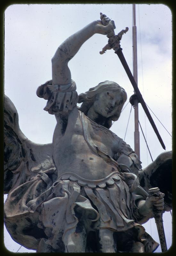
[(130, 81), (132, 83), (132, 86), (133, 86), (134, 91), (135, 91), (135, 93), (136, 93), (136, 95), (138, 97), (138, 100), (139, 100), (140, 104), (142, 105), (142, 107), (143, 107), (143, 109), (144, 109), (144, 111), (146, 113), (146, 116), (148, 117), (148, 120), (149, 120), (151, 126), (153, 127), (159, 142), (161, 143), (161, 146), (165, 149), (164, 142), (163, 142), (163, 140), (162, 140), (162, 138), (161, 138), (161, 136), (160, 136), (160, 134), (158, 132), (158, 129), (156, 128), (156, 125), (155, 125), (155, 123), (153, 121), (152, 116), (150, 115), (150, 112), (148, 111), (148, 108), (147, 108), (147, 106), (145, 104), (145, 101), (142, 98), (140, 90), (139, 90), (139, 88), (138, 88), (138, 86), (137, 86), (137, 84), (136, 84), (136, 82), (134, 80), (134, 77), (133, 77), (133, 75), (132, 75), (132, 73), (130, 71), (130, 68), (128, 67), (128, 64), (127, 64), (127, 62), (126, 62), (126, 60), (124, 58), (124, 54), (122, 52), (122, 49), (119, 48), (115, 53), (118, 55), (122, 65), (123, 65), (123, 67), (124, 67), (124, 69), (125, 69), (125, 71), (127, 73), (127, 76), (129, 77), (129, 79), (130, 79)]

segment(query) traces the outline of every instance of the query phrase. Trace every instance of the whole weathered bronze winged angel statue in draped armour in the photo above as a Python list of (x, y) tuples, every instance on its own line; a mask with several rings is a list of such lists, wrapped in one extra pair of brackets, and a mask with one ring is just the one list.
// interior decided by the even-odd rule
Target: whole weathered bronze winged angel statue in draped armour
[[(81, 45), (112, 29), (108, 17), (102, 20), (106, 26), (93, 21), (58, 47), (52, 80), (37, 89), (57, 120), (52, 143), (28, 140), (4, 98), (5, 225), (13, 240), (36, 252), (153, 252), (158, 243), (142, 223), (153, 207), (172, 209), (171, 152), (142, 170), (132, 148), (109, 130), (127, 99), (124, 88), (104, 81), (77, 95), (71, 79), (68, 61)], [(152, 187), (159, 197), (148, 196)]]

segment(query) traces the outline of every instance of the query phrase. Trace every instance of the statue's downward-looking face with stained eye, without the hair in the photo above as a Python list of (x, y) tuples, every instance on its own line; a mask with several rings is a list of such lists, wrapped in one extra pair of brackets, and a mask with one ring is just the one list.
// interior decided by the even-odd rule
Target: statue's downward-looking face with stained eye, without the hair
[(100, 92), (93, 103), (94, 111), (104, 117), (114, 116), (121, 100), (122, 96), (118, 91), (106, 90)]

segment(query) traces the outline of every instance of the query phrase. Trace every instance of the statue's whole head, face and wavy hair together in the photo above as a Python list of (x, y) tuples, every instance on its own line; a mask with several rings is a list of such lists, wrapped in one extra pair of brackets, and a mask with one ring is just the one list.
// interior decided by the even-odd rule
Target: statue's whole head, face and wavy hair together
[(112, 81), (104, 81), (78, 97), (78, 103), (83, 102), (79, 110), (86, 115), (93, 108), (96, 113), (107, 118), (107, 128), (111, 127), (112, 121), (118, 120), (127, 99), (125, 90)]

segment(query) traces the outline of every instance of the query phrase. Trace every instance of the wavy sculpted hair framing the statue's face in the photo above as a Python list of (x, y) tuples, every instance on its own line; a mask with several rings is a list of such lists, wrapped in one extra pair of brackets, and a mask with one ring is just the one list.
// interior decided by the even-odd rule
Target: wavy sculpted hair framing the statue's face
[(81, 102), (83, 103), (81, 107), (78, 107), (78, 109), (86, 115), (89, 108), (93, 105), (93, 102), (96, 100), (96, 97), (98, 96), (98, 94), (106, 90), (115, 91), (116, 93), (119, 93), (122, 97), (116, 114), (114, 116), (110, 116), (107, 118), (105, 126), (107, 128), (110, 128), (112, 125), (112, 121), (118, 120), (121, 110), (123, 108), (123, 105), (127, 99), (127, 95), (124, 88), (122, 88), (119, 84), (112, 81), (104, 81), (98, 84), (97, 86), (90, 88), (88, 92), (79, 94), (78, 103), (81, 103)]

